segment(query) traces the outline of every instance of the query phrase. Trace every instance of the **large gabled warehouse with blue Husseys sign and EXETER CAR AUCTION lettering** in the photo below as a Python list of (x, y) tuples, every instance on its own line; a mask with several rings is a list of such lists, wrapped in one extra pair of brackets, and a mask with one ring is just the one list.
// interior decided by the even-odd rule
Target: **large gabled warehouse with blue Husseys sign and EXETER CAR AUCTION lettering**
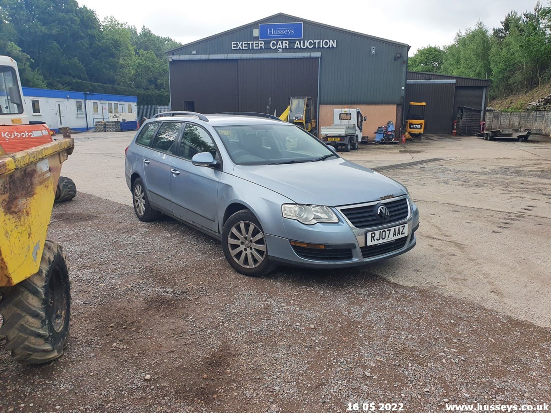
[(280, 115), (314, 97), (318, 126), (333, 108), (359, 107), (364, 135), (400, 124), (409, 46), (278, 13), (170, 50), (172, 110)]

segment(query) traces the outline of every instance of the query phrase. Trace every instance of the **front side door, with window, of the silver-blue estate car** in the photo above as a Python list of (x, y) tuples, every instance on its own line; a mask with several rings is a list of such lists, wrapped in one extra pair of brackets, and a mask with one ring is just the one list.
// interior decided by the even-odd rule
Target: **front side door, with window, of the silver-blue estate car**
[(187, 123), (172, 160), (172, 169), (179, 172), (170, 177), (172, 210), (178, 218), (218, 232), (217, 193), (222, 169), (193, 165), (191, 158), (201, 152), (219, 159), (206, 129)]

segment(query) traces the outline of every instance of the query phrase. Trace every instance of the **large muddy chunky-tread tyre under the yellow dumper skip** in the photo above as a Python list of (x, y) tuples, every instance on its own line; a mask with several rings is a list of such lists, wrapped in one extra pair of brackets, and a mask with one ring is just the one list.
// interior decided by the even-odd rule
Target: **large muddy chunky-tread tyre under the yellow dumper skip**
[(6, 350), (23, 364), (61, 356), (71, 318), (71, 284), (62, 247), (46, 240), (38, 272), (9, 288), (0, 302)]

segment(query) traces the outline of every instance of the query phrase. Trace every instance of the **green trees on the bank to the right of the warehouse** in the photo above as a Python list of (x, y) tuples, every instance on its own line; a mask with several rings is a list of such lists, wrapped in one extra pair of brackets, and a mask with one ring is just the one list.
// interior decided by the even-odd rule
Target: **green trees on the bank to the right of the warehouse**
[(551, 79), (551, 7), (512, 11), (491, 31), (478, 21), (444, 48), (420, 48), (408, 69), (491, 79), (493, 97), (530, 90)]

